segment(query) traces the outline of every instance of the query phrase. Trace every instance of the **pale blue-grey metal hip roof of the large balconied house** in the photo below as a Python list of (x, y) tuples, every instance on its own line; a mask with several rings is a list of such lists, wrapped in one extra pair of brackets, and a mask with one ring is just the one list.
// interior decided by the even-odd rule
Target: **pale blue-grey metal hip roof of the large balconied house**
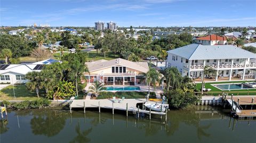
[(188, 60), (256, 58), (256, 54), (233, 45), (190, 44), (172, 49), (168, 53), (184, 57)]

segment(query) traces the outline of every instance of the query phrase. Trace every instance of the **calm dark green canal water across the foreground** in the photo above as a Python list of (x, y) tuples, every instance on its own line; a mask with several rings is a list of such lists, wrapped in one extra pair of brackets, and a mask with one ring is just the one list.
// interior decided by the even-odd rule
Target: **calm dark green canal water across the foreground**
[[(201, 108), (202, 107), (202, 108)], [(199, 110), (206, 110), (199, 114)], [(208, 108), (208, 109), (207, 109)], [(256, 121), (237, 121), (210, 107), (170, 111), (160, 119), (135, 119), (125, 113), (34, 110), (12, 111), (1, 120), (1, 143), (7, 142), (254, 142)], [(219, 112), (218, 110), (215, 110)]]

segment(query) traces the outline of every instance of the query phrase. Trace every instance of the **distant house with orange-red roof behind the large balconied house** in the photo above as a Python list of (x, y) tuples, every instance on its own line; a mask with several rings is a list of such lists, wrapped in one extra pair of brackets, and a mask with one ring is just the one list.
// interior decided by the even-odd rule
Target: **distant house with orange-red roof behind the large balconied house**
[(227, 38), (212, 34), (205, 37), (196, 38), (196, 43), (203, 45), (226, 45)]

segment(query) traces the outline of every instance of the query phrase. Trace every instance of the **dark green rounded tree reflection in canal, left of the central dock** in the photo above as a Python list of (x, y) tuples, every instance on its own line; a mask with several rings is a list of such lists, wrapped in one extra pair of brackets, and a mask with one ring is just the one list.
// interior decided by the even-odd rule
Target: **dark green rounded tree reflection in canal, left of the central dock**
[(30, 120), (32, 132), (52, 137), (58, 134), (66, 124), (67, 112), (32, 112), (33, 118)]

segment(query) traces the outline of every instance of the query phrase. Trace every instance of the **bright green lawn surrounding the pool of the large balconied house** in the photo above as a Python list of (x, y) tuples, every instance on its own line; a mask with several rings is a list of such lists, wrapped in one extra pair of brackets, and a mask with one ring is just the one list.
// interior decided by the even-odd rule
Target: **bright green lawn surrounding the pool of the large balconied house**
[[(211, 82), (211, 83), (205, 83), (205, 88), (208, 89), (212, 89), (209, 94), (212, 94), (211, 92), (214, 92), (213, 95), (221, 95), (222, 92), (231, 92), (231, 94), (237, 95), (237, 91), (245, 91), (245, 92), (239, 92), (239, 95), (248, 95), (247, 91), (255, 91), (255, 92), (249, 92), (249, 95), (256, 95), (256, 88), (254, 89), (239, 89), (239, 90), (220, 90), (214, 86), (212, 86), (212, 84), (221, 84), (221, 83), (244, 83), (244, 82), (252, 82), (252, 81), (227, 81), (227, 82)], [(201, 91), (201, 87), (202, 87), (202, 83), (197, 83), (196, 84), (196, 88), (198, 90)], [(229, 94), (230, 95), (230, 94)]]

